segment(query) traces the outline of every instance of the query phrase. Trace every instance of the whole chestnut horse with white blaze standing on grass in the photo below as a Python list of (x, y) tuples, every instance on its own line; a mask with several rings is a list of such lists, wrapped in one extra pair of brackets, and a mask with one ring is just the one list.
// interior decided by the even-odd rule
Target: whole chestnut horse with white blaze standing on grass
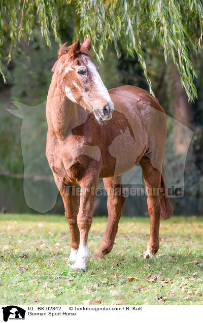
[[(88, 37), (83, 44), (78, 40), (59, 49), (46, 107), (46, 156), (69, 223), (74, 270), (86, 268), (99, 177), (108, 193), (108, 223), (96, 257), (104, 257), (113, 247), (125, 202), (121, 176), (136, 164), (142, 167), (151, 219), (145, 258), (154, 257), (159, 249), (160, 217), (168, 219), (173, 214), (162, 171), (164, 110), (151, 94), (138, 87), (121, 86), (108, 91), (99, 68), (89, 58), (90, 48)], [(75, 194), (78, 185), (80, 205)]]

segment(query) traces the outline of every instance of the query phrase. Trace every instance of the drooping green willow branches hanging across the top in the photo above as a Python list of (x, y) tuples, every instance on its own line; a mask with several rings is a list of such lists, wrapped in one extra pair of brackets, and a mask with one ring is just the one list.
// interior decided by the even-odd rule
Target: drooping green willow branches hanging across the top
[[(21, 37), (31, 40), (36, 23), (40, 24), (48, 46), (51, 30), (60, 44), (59, 21), (61, 17), (67, 19), (67, 11), (72, 6), (79, 17), (76, 19), (79, 23), (75, 25), (76, 36), (91, 37), (98, 60), (104, 58), (110, 43), (114, 44), (119, 56), (119, 41), (129, 55), (137, 53), (153, 94), (145, 63), (145, 47), (158, 42), (165, 61), (168, 55), (172, 56), (189, 100), (194, 101), (197, 97), (193, 83), (196, 73), (190, 54), (197, 53), (198, 41), (200, 45), (202, 0), (0, 0), (0, 6), (1, 47), (7, 33), (11, 48), (17, 46)], [(5, 79), (1, 63), (0, 72)]]

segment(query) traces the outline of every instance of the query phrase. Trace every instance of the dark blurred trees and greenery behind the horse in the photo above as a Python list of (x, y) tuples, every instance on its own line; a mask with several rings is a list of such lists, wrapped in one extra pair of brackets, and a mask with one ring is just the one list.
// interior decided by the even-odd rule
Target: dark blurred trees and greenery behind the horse
[[(40, 5), (39, 5), (40, 6)], [(79, 16), (76, 14), (74, 6), (69, 10), (61, 1), (58, 2), (60, 10), (57, 12), (59, 22), (59, 35), (62, 43), (71, 44), (77, 34), (76, 26), (82, 26)], [(67, 11), (66, 11), (67, 10)], [(64, 12), (66, 11), (66, 19)], [(63, 16), (61, 16), (63, 14)], [(82, 28), (82, 27), (81, 27)], [(76, 32), (75, 32), (76, 30)], [(23, 30), (22, 30), (23, 33)], [(28, 106), (37, 106), (46, 101), (46, 96), (51, 82), (51, 68), (57, 58), (56, 37), (50, 31), (51, 48), (46, 45), (42, 37), (42, 28), (39, 22), (35, 23), (29, 41), (24, 38), (19, 39), (16, 46), (12, 49), (12, 60), (7, 64), (7, 53), (10, 50), (12, 37), (4, 35), (5, 56), (2, 55), (2, 69), (7, 76), (7, 84), (0, 79), (0, 211), (8, 212), (34, 212), (30, 209), (23, 195), (23, 158), (21, 150), (20, 131), (22, 119), (11, 115), (6, 109), (13, 109), (11, 101), (19, 101)], [(44, 35), (43, 35), (44, 36)], [(83, 36), (81, 35), (83, 40)], [(99, 42), (98, 42), (99, 43)], [(101, 43), (98, 44), (99, 53)], [(142, 64), (138, 59), (136, 51), (132, 51), (134, 57), (128, 55), (122, 41), (117, 41), (116, 50), (114, 45), (104, 50), (104, 60), (101, 60), (100, 74), (107, 88), (121, 85), (134, 85), (149, 89), (144, 75)], [(173, 199), (176, 214), (202, 214), (203, 206), (203, 52), (202, 49), (196, 55), (189, 52), (193, 67), (196, 70), (197, 78), (194, 85), (197, 89), (198, 98), (191, 104), (188, 102), (187, 95), (182, 88), (179, 71), (173, 59), (170, 57), (167, 64), (164, 61), (164, 50), (160, 44), (154, 40), (149, 44), (142, 41), (142, 49), (145, 57), (148, 76), (152, 83), (152, 89), (159, 103), (163, 106), (167, 115), (182, 122), (189, 127), (194, 136), (190, 143), (185, 165), (185, 189), (184, 197)], [(117, 57), (117, 51), (120, 57)], [(3, 52), (2, 52), (3, 54)], [(92, 50), (92, 59), (96, 61)], [(35, 120), (32, 120), (33, 122)], [(46, 127), (46, 120), (42, 120)], [(31, 125), (30, 125), (31, 128)], [(181, 169), (181, 156), (179, 154), (182, 143), (179, 138), (183, 134), (170, 133), (168, 124), (167, 145), (174, 149), (176, 158), (167, 156), (167, 172), (172, 176), (179, 177)], [(35, 131), (30, 132), (32, 140), (40, 142), (40, 135)], [(178, 139), (177, 139), (178, 137)], [(166, 146), (167, 148), (167, 146)], [(95, 201), (95, 213), (105, 214), (106, 197), (97, 197)], [(63, 205), (58, 196), (52, 213), (63, 213)], [(129, 197), (123, 215), (147, 215), (146, 197)]]

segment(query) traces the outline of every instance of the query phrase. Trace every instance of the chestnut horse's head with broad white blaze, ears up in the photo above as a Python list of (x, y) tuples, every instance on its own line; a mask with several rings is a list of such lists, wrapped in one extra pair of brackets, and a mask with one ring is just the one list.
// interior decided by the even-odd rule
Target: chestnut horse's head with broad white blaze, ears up
[(98, 121), (107, 121), (112, 118), (114, 104), (98, 66), (89, 58), (90, 48), (90, 37), (82, 45), (80, 40), (69, 47), (62, 45), (52, 71), (58, 73), (57, 87), (69, 100), (93, 111)]

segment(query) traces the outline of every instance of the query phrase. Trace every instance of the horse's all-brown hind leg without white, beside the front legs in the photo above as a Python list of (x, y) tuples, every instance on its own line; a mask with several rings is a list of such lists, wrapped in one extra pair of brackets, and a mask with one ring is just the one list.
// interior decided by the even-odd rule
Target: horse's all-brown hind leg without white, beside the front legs
[(99, 258), (103, 258), (113, 248), (118, 222), (125, 203), (125, 198), (122, 196), (121, 176), (103, 178), (103, 181), (108, 194), (108, 223), (103, 241), (94, 254)]

